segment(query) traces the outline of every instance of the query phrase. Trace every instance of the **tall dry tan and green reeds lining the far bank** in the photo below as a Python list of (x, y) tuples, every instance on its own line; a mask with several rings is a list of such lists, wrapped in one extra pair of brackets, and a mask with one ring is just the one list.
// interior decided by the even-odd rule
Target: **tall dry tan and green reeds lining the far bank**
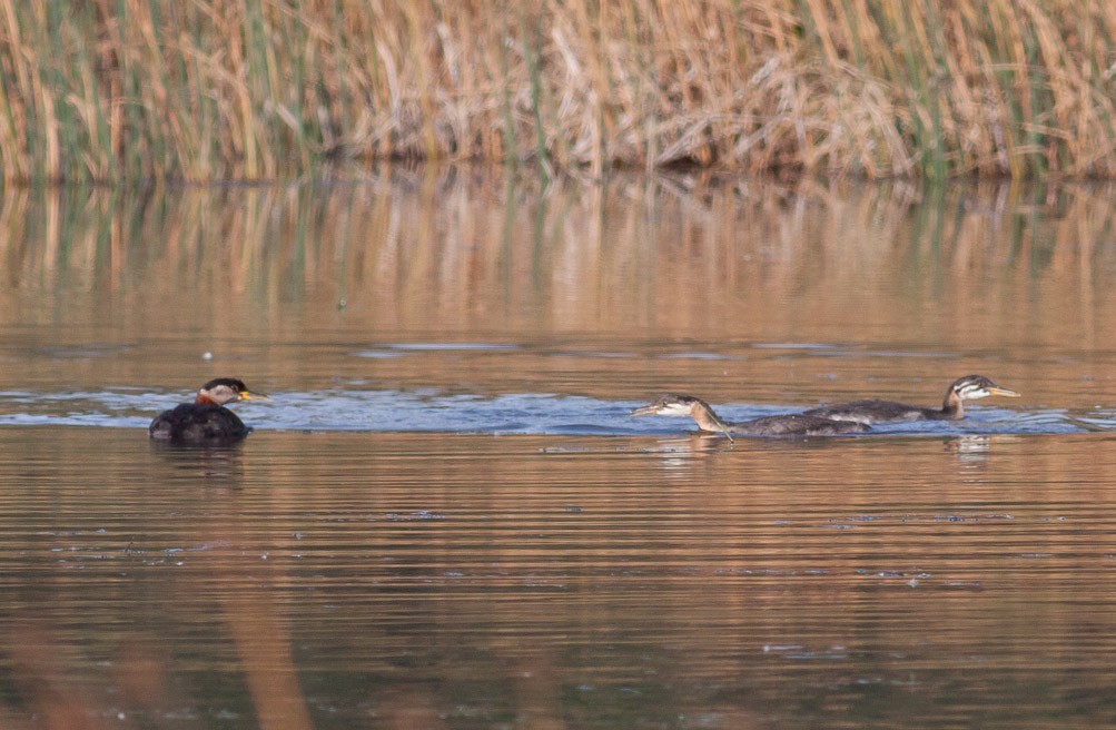
[(1114, 36), (1107, 0), (0, 0), (0, 165), (1113, 177)]

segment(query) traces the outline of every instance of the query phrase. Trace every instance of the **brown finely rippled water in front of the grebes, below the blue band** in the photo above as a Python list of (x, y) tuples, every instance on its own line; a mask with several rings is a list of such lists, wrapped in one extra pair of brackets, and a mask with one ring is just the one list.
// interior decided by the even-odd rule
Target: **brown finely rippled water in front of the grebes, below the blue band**
[(261, 433), (230, 470), (29, 431), (0, 429), (17, 723), (1109, 719), (1105, 436), (974, 469), (970, 439)]

